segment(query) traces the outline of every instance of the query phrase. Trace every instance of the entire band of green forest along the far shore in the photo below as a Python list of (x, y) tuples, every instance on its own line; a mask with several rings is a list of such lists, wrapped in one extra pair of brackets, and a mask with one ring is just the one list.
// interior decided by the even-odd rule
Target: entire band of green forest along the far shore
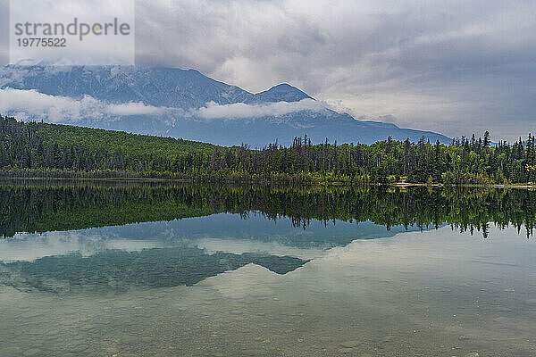
[(190, 182), (288, 184), (512, 185), (536, 178), (534, 137), (513, 145), (461, 137), (449, 145), (395, 141), (372, 145), (224, 147), (0, 116), (0, 176), (147, 178)]

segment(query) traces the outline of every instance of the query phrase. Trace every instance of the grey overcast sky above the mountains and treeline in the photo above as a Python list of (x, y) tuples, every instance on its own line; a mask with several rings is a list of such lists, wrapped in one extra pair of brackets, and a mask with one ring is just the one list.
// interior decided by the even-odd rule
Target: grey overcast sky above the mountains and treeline
[(138, 1), (136, 53), (404, 128), (536, 133), (534, 0)]

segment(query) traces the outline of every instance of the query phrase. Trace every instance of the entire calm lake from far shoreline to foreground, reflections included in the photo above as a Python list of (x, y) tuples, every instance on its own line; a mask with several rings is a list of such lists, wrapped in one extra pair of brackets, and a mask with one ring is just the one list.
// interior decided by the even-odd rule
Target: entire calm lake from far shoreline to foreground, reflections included
[(0, 197), (0, 356), (536, 355), (531, 191)]

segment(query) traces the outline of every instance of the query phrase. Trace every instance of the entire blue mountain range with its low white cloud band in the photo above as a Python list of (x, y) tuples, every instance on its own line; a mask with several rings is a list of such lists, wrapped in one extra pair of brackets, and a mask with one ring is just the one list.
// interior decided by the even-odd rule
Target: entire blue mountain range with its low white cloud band
[(199, 71), (138, 66), (16, 66), (0, 69), (0, 111), (21, 120), (182, 137), (217, 145), (282, 145), (307, 135), (314, 143), (365, 143), (421, 137), (430, 131), (356, 120), (280, 84), (250, 93)]

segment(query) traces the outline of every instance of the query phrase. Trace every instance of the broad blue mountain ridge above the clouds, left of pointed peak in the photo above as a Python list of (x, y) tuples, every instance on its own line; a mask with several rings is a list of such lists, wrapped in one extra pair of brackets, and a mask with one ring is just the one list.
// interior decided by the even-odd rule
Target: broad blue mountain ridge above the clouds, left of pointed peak
[(253, 101), (254, 95), (210, 79), (199, 71), (131, 66), (6, 66), (0, 88), (36, 89), (46, 95), (81, 98), (91, 95), (111, 103), (141, 102), (191, 108), (208, 102)]

